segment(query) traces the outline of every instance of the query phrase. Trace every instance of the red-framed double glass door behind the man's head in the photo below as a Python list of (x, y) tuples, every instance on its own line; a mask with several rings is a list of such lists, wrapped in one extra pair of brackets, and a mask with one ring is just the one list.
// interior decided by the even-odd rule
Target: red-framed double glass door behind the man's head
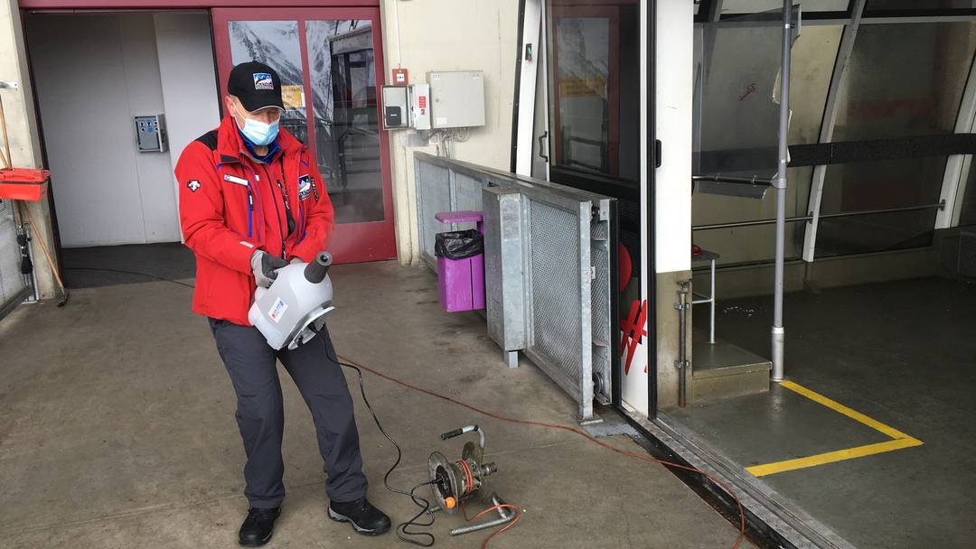
[[(337, 262), (396, 255), (389, 143), (379, 125), (384, 83), (375, 8), (217, 9), (220, 84), (258, 60), (281, 75), (282, 127), (307, 145), (335, 209)], [(225, 93), (225, 90), (224, 90)]]

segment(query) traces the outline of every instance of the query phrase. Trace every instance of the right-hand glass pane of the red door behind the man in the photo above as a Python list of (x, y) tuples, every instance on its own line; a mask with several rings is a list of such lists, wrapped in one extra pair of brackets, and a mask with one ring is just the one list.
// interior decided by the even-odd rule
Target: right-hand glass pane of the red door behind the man
[(337, 223), (384, 219), (373, 29), (369, 20), (305, 22), (315, 150)]

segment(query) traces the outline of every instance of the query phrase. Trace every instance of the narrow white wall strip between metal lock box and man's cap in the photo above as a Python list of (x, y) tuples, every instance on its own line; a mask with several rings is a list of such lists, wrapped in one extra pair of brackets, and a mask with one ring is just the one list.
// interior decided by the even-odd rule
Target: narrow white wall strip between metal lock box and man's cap
[[(153, 21), (170, 162), (176, 166), (183, 147), (221, 122), (210, 18), (204, 12), (170, 12), (155, 14)], [(179, 203), (176, 176), (170, 176)]]

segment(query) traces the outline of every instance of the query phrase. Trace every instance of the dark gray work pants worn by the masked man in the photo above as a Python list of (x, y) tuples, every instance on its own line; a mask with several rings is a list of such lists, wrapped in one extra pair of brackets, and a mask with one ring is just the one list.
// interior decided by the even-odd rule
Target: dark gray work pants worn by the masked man
[(285, 498), (281, 459), (285, 414), (276, 360), (292, 376), (311, 411), (328, 475), (325, 490), (329, 498), (352, 501), (364, 497), (366, 476), (352, 398), (328, 330), (323, 327), (295, 350), (275, 351), (252, 326), (211, 319), (210, 329), (237, 393), (237, 426), (247, 454), (244, 494), (251, 506), (277, 507)]

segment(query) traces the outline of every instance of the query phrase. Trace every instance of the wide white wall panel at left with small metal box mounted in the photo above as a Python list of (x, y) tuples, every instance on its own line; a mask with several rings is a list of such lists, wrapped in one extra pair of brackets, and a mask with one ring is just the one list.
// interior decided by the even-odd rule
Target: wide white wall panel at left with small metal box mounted
[(180, 240), (170, 155), (133, 128), (164, 111), (152, 16), (34, 17), (28, 44), (61, 244)]

